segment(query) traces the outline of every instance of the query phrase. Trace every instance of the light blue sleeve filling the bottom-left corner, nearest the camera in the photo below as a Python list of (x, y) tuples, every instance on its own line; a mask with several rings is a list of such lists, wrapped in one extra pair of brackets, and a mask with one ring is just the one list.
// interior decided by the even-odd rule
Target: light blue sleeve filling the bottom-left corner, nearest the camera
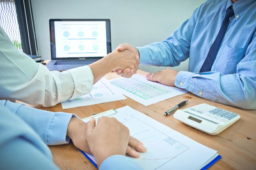
[(58, 169), (42, 139), (2, 101), (0, 134), (0, 169)]

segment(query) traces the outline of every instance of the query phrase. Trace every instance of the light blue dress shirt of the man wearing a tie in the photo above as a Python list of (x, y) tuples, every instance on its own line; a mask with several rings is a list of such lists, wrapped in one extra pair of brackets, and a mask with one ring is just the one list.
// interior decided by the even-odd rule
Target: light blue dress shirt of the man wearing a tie
[[(230, 17), (211, 71), (199, 73), (231, 5), (235, 15)], [(177, 74), (176, 87), (214, 102), (255, 110), (255, 9), (255, 0), (206, 1), (165, 41), (138, 47), (140, 63), (178, 66), (189, 58), (188, 71)]]

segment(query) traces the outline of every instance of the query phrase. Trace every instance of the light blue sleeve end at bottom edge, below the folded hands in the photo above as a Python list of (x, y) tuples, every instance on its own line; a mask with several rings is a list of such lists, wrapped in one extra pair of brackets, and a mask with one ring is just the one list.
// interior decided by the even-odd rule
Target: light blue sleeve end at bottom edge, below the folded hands
[(113, 155), (105, 159), (101, 165), (100, 170), (142, 170), (143, 168), (134, 160), (131, 160), (129, 157), (125, 157), (123, 155)]

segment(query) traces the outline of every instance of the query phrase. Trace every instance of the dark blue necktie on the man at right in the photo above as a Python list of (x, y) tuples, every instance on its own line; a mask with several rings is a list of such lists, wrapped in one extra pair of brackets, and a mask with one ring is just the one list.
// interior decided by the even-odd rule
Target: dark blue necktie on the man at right
[(204, 61), (204, 64), (202, 66), (202, 68), (200, 69), (200, 73), (202, 72), (206, 72), (206, 71), (211, 71), (211, 67), (212, 67), (212, 64), (215, 60), (215, 57), (218, 53), (218, 49), (220, 47), (220, 43), (223, 39), (223, 36), (227, 30), (227, 27), (228, 27), (228, 24), (229, 24), (229, 18), (231, 16), (234, 15), (234, 10), (232, 8), (232, 6), (230, 6), (227, 10), (226, 10), (226, 15), (225, 15), (225, 18), (223, 19), (223, 22), (222, 22), (222, 25), (221, 25), (221, 28), (220, 28), (220, 31), (218, 33), (218, 36), (216, 37), (215, 41), (213, 42), (208, 54), (207, 54), (207, 57)]

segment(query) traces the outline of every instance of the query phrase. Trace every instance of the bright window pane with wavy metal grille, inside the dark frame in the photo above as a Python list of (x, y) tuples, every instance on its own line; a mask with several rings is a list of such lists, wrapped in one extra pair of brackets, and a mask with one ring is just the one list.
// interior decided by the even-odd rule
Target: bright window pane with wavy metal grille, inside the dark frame
[(14, 0), (0, 0), (0, 25), (13, 44), (22, 51), (20, 30)]

